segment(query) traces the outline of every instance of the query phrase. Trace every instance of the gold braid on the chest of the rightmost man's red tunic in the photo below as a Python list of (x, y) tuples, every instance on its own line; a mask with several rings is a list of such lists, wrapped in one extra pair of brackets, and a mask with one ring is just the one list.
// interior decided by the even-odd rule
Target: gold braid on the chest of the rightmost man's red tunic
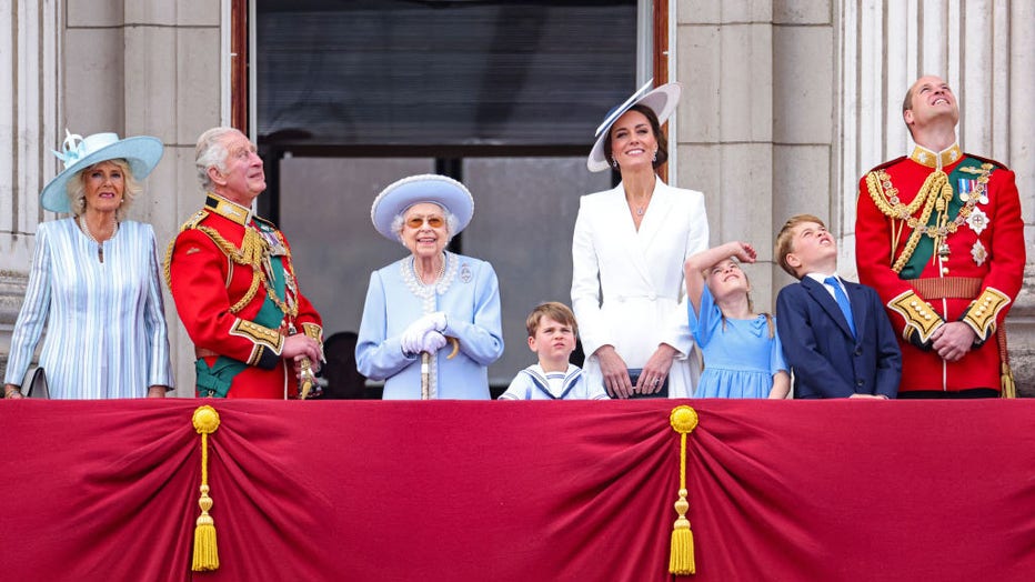
[[(941, 170), (932, 172), (927, 179), (924, 180), (924, 185), (922, 185), (920, 192), (916, 193), (916, 198), (908, 204), (903, 204), (898, 200), (898, 189), (892, 185), (892, 180), (887, 175), (887, 172), (877, 170), (866, 174), (866, 189), (870, 191), (870, 198), (873, 199), (873, 203), (877, 205), (877, 209), (883, 212), (885, 217), (893, 220), (904, 220), (906, 225), (913, 229), (912, 234), (910, 234), (910, 240), (906, 242), (906, 248), (892, 265), (893, 271), (896, 273), (902, 272), (905, 264), (913, 258), (913, 252), (916, 251), (916, 244), (920, 243), (922, 234), (926, 234), (934, 239), (935, 248), (937, 249), (941, 241), (956, 232), (959, 225), (966, 222), (967, 217), (974, 211), (974, 205), (977, 204), (985, 194), (988, 174), (992, 173), (993, 168), (994, 165), (991, 163), (983, 163), (981, 170), (965, 169), (968, 173), (978, 174), (977, 187), (974, 192), (967, 197), (963, 208), (959, 209), (956, 218), (952, 221), (948, 220), (947, 211), (948, 202), (953, 199), (953, 187), (945, 172)], [(913, 213), (916, 212), (922, 204), (924, 205), (923, 212), (918, 218), (914, 217)], [(937, 224), (927, 224), (932, 209), (936, 209), (938, 212)], [(892, 233), (893, 255), (897, 241), (898, 232), (896, 231)]]

